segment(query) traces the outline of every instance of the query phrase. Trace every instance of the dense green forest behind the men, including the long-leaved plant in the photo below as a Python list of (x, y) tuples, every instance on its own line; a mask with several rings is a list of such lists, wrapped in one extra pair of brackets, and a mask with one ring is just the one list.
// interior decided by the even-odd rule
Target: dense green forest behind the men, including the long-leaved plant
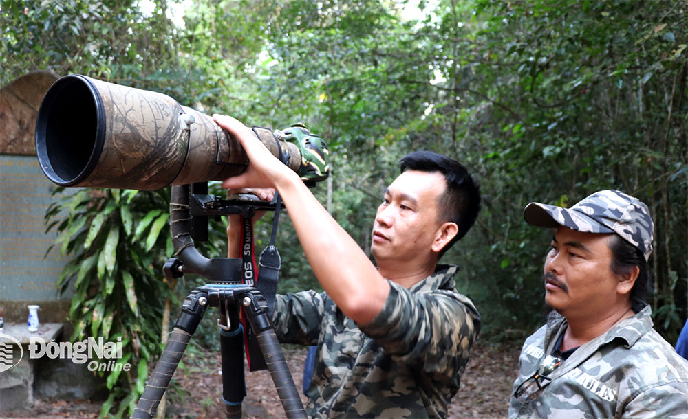
[[(1, 0), (0, 82), (36, 69), (171, 95), (204, 113), (326, 139), (314, 189), (365, 251), (383, 190), (411, 150), (462, 161), (482, 185), (471, 232), (446, 256), (482, 315), (482, 339), (544, 321), (550, 232), (531, 201), (570, 206), (614, 188), (647, 203), (655, 327), (688, 315), (688, 3), (683, 1)], [(219, 192), (217, 185), (211, 188)], [(47, 214), (74, 257), (59, 279), (81, 335), (125, 337), (107, 408), (130, 405), (160, 353), (166, 303), (203, 280), (164, 280), (169, 189), (83, 190)], [(61, 208), (68, 216), (57, 216)], [(270, 218), (270, 217), (266, 217)], [(270, 220), (257, 225), (258, 251)], [(206, 256), (224, 256), (222, 222)], [(283, 216), (279, 291), (319, 289)], [(336, 257), (336, 255), (333, 255)], [(87, 279), (88, 278), (88, 279)], [(145, 301), (146, 304), (138, 302)], [(176, 317), (175, 309), (171, 316)], [(215, 329), (201, 341), (216, 345)], [(109, 405), (108, 405), (109, 403)]]

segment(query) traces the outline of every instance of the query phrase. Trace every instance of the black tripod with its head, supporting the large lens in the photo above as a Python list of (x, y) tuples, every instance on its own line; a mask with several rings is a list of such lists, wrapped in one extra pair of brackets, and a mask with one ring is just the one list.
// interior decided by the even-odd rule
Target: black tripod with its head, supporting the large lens
[(241, 214), (250, 218), (257, 210), (275, 210), (275, 205), (260, 201), (247, 204), (218, 199), (208, 195), (207, 183), (173, 186), (170, 230), (175, 256), (178, 258), (166, 262), (165, 275), (168, 278), (179, 278), (184, 273), (197, 273), (212, 282), (195, 288), (184, 299), (182, 313), (131, 418), (149, 419), (155, 415), (184, 350), (208, 307), (219, 307), (220, 310), (221, 321), (218, 324), (221, 328), (222, 399), (226, 406), (226, 417), (241, 418), (241, 400), (246, 396), (245, 330), (240, 320), (243, 309), (287, 418), (305, 418), (301, 397), (272, 328), (268, 302), (257, 288), (241, 284), (242, 260), (205, 258), (196, 249), (191, 238), (193, 236), (197, 240), (207, 240), (208, 216)]

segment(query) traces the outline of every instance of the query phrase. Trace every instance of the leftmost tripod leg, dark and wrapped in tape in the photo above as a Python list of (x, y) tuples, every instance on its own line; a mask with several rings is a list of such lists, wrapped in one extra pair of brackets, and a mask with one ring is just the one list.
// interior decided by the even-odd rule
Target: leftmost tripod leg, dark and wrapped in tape
[(136, 403), (131, 419), (150, 419), (155, 416), (155, 410), (158, 409), (160, 399), (182, 359), (186, 345), (191, 340), (191, 335), (196, 331), (203, 318), (207, 304), (208, 295), (195, 290), (191, 291), (191, 294), (184, 299), (182, 314), (177, 319), (175, 328), (172, 330), (162, 355), (160, 355), (160, 360), (155, 365), (153, 374), (148, 379), (146, 388)]

